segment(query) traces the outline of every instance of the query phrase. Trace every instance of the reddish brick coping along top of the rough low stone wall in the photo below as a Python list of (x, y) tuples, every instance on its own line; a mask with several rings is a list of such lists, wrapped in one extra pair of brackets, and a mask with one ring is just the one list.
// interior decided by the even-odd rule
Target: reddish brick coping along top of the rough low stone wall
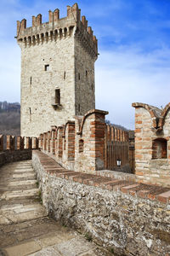
[(100, 172), (96, 172), (96, 174), (74, 172), (66, 170), (62, 166), (59, 167), (59, 164), (47, 154), (43, 154), (40, 151), (34, 151), (33, 154), (38, 157), (45, 172), (56, 177), (62, 177), (77, 183), (108, 189), (110, 191), (121, 191), (124, 194), (141, 197), (145, 200), (160, 201), (167, 205), (170, 204), (170, 189), (167, 187), (139, 183), (133, 179), (129, 179), (129, 174), (126, 173), (123, 173), (124, 179), (120, 179), (115, 177), (114, 174), (111, 177), (105, 177), (100, 175)]

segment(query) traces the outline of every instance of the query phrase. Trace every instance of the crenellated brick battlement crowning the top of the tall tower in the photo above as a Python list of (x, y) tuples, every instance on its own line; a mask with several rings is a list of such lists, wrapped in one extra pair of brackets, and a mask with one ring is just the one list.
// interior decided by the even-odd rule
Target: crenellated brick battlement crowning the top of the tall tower
[(24, 43), (25, 47), (57, 41), (72, 35), (81, 41), (90, 55), (97, 57), (98, 41), (91, 26), (88, 26), (86, 17), (82, 16), (81, 20), (81, 9), (78, 9), (77, 3), (72, 7), (67, 6), (67, 16), (64, 18), (59, 19), (59, 9), (55, 9), (54, 12), (49, 10), (48, 22), (45, 23), (42, 23), (41, 14), (32, 16), (31, 27), (26, 27), (26, 19), (17, 21), (16, 38), (18, 44)]

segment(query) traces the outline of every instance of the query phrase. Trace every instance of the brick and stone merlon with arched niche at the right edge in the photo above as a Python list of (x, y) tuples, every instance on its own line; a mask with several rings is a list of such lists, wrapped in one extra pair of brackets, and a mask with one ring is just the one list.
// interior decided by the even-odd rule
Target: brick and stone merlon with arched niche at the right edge
[(135, 174), (141, 183), (170, 187), (170, 103), (163, 110), (135, 108)]

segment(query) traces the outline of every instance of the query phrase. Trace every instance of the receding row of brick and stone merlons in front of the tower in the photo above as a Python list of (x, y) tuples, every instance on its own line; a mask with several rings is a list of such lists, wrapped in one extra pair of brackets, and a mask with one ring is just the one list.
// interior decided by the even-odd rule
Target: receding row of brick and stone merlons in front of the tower
[(47, 135), (49, 132), (39, 139), (42, 151), (70, 170), (94, 172), (104, 169), (105, 114), (107, 112), (94, 109), (63, 126), (52, 126), (53, 142)]

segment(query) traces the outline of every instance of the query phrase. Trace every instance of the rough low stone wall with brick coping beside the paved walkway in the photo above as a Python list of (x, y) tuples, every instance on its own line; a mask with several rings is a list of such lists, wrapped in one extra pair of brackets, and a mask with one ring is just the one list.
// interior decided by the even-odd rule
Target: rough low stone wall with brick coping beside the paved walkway
[(41, 152), (33, 152), (32, 163), (55, 219), (114, 255), (169, 255), (168, 189), (67, 171)]

